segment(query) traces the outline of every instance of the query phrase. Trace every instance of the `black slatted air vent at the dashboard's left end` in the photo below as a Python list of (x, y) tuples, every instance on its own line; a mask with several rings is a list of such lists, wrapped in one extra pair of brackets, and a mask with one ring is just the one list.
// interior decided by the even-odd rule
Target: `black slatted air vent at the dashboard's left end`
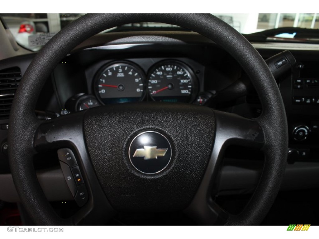
[(9, 119), (13, 97), (20, 80), (19, 67), (0, 70), (0, 120)]

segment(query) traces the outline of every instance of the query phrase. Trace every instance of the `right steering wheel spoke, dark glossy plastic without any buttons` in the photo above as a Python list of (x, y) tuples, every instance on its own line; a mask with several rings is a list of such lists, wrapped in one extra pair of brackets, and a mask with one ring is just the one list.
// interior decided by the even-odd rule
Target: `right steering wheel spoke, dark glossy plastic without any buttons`
[(219, 170), (225, 149), (229, 145), (241, 145), (250, 148), (262, 148), (263, 131), (256, 120), (237, 114), (215, 112), (215, 141), (204, 177), (194, 199), (185, 212), (200, 224), (224, 225), (230, 215), (212, 200), (214, 179)]

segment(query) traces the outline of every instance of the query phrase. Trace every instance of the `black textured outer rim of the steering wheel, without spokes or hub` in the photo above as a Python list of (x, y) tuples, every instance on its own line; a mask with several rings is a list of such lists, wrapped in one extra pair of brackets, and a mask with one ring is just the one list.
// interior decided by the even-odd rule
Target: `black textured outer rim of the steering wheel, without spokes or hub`
[(33, 168), (35, 132), (40, 121), (34, 109), (39, 93), (53, 71), (74, 47), (117, 25), (163, 22), (194, 30), (223, 47), (252, 79), (263, 113), (256, 119), (263, 128), (266, 160), (259, 185), (243, 213), (227, 224), (258, 224), (270, 209), (284, 175), (288, 130), (278, 86), (256, 49), (231, 26), (210, 14), (87, 14), (63, 28), (34, 57), (16, 92), (10, 115), (8, 142), (12, 177), (23, 205), (39, 224), (72, 224), (49, 209)]

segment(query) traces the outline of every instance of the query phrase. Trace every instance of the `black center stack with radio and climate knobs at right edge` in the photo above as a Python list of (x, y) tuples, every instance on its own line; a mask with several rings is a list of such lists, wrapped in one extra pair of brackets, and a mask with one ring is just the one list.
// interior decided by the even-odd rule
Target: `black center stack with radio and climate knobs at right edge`
[(279, 82), (289, 127), (288, 163), (319, 161), (319, 61), (302, 61)]

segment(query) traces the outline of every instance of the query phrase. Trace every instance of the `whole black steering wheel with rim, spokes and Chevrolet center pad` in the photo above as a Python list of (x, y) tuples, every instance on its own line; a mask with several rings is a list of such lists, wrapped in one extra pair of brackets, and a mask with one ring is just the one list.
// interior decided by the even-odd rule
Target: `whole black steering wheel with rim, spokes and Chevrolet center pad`
[[(261, 116), (247, 119), (203, 106), (140, 102), (96, 107), (45, 122), (36, 118), (42, 86), (74, 47), (104, 29), (134, 22), (179, 25), (219, 44), (252, 80)], [(268, 66), (225, 22), (211, 14), (87, 14), (57, 33), (26, 70), (11, 109), (9, 159), (20, 199), (40, 225), (100, 224), (116, 211), (176, 210), (184, 210), (199, 224), (252, 225), (263, 220), (278, 193), (287, 132), (283, 101)], [(145, 141), (140, 136), (148, 137)], [(265, 156), (256, 191), (238, 215), (211, 199), (223, 152), (231, 144), (259, 148)], [(61, 148), (74, 154), (86, 188), (82, 191), (87, 202), (68, 219), (56, 215), (33, 167), (34, 154)]]

